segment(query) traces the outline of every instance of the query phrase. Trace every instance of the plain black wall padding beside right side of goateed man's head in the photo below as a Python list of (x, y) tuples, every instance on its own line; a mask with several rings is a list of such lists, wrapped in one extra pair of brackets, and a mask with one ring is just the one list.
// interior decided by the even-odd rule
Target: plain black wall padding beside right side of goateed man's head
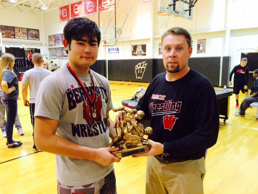
[(207, 77), (213, 86), (219, 86), (220, 57), (193, 57), (188, 59), (188, 66)]

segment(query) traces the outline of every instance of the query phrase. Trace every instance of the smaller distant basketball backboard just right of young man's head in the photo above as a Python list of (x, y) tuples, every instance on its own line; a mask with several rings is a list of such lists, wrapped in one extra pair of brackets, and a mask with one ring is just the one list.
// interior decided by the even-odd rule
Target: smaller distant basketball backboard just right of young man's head
[(103, 46), (116, 45), (116, 26), (106, 26), (99, 29), (101, 32), (101, 40), (106, 42)]

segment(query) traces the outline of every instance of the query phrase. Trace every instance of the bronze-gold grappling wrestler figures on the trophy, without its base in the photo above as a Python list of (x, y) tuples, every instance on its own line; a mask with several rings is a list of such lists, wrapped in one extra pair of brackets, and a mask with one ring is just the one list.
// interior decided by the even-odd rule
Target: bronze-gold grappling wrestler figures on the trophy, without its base
[(144, 117), (144, 112), (138, 110), (134, 113), (134, 110), (125, 106), (118, 108), (112, 108), (114, 112), (124, 110), (123, 119), (120, 120), (120, 124), (116, 126), (116, 137), (111, 141), (109, 147), (118, 147), (123, 144), (123, 148), (126, 149), (127, 146), (142, 146), (143, 136), (151, 135), (153, 130), (151, 127), (146, 127), (144, 129), (143, 124), (138, 123)]

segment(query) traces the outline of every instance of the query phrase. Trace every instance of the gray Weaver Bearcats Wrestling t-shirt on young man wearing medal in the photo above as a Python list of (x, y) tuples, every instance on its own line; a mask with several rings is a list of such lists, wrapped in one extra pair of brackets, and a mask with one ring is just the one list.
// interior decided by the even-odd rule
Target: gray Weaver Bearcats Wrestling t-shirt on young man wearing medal
[[(39, 85), (34, 116), (59, 121), (56, 134), (91, 148), (108, 147), (109, 128), (106, 113), (113, 107), (108, 80), (91, 71), (95, 83), (96, 101), (93, 109), (97, 117), (91, 117), (92, 108), (81, 86), (71, 75), (67, 66), (54, 71)], [(93, 95), (90, 75), (77, 75), (86, 90)], [(57, 179), (61, 184), (80, 186), (99, 181), (114, 168), (113, 164), (102, 166), (92, 160), (81, 160), (56, 155)]]

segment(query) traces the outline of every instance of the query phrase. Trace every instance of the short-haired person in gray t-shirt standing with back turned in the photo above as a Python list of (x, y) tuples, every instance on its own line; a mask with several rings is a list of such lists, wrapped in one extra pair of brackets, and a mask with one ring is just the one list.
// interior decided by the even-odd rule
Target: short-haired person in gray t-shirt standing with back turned
[[(38, 90), (38, 86), (40, 82), (51, 72), (43, 68), (43, 57), (40, 53), (34, 53), (32, 56), (32, 63), (34, 64), (34, 68), (25, 71), (22, 78), (22, 97), (24, 106), (30, 107), (30, 121), (33, 128), (33, 141), (34, 141), (34, 111), (35, 111), (35, 102), (36, 102), (36, 94)], [(28, 86), (30, 86), (30, 101), (27, 100), (28, 95)], [(32, 147), (33, 150), (38, 150), (35, 142)]]

